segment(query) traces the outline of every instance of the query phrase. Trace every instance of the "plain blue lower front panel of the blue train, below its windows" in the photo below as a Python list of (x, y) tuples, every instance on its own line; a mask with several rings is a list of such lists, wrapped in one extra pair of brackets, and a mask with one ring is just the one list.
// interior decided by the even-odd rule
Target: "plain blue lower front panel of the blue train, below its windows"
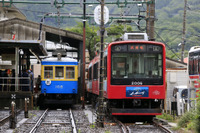
[(77, 94), (77, 88), (77, 81), (51, 81), (50, 85), (46, 85), (45, 81), (41, 82), (41, 93)]

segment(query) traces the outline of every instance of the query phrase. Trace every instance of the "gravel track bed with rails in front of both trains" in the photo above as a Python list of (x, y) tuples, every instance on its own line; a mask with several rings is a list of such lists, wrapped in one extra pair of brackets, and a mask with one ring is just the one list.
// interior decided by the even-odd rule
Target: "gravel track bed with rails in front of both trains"
[[(9, 113), (7, 113), (9, 114)], [(72, 133), (172, 133), (167, 126), (158, 120), (153, 124), (123, 123), (116, 118), (107, 119), (104, 128), (98, 128), (94, 123), (90, 123), (87, 114), (81, 109), (73, 110), (32, 110), (29, 111), (29, 118), (24, 118), (23, 113), (18, 120), (23, 121), (13, 131), (15, 133), (53, 133), (53, 132), (72, 132)], [(1, 118), (1, 117), (0, 117)], [(5, 132), (0, 127), (0, 132)]]

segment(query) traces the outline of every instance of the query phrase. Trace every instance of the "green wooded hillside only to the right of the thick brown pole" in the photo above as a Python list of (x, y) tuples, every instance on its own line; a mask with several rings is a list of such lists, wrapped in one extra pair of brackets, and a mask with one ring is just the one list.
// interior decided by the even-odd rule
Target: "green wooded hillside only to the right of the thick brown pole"
[[(177, 52), (180, 56), (183, 31), (183, 10), (184, 0), (157, 0), (156, 15), (158, 21), (155, 28), (156, 33), (170, 46), (170, 48)], [(186, 44), (185, 44), (185, 57), (187, 51), (200, 43), (200, 1), (188, 0), (186, 11)], [(156, 37), (157, 41), (161, 41), (160, 37)], [(168, 57), (174, 56), (168, 50)]]

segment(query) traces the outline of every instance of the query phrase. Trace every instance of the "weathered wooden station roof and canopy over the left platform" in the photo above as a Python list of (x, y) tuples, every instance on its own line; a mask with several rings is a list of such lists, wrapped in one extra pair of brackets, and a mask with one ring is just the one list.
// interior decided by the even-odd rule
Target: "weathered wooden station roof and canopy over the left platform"
[[(47, 55), (45, 41), (60, 42), (79, 49), (83, 36), (71, 31), (43, 25), (42, 38), (39, 38), (40, 23), (12, 18), (0, 21), (0, 55), (14, 53), (11, 48), (19, 47), (29, 51), (31, 49), (37, 56)], [(30, 53), (31, 54), (31, 53)]]

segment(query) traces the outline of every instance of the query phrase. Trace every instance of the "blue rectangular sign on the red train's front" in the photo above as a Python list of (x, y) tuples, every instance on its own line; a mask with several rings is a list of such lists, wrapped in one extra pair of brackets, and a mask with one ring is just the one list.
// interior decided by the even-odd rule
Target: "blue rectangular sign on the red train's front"
[(126, 87), (126, 97), (148, 97), (149, 87)]

